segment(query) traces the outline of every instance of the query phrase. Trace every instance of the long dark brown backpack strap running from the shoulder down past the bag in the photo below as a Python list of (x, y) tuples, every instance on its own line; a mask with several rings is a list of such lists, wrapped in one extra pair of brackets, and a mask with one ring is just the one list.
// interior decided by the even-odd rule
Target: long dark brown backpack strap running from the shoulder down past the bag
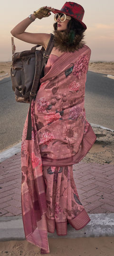
[[(33, 85), (32, 85), (32, 89), (30, 91), (30, 96), (29, 96), (30, 106), (29, 106), (29, 112), (28, 112), (28, 130), (27, 130), (27, 138), (26, 138), (28, 140), (31, 140), (31, 132), (32, 132), (31, 102), (32, 102), (32, 99), (37, 95), (37, 89), (38, 89), (38, 84), (39, 84), (39, 79), (40, 79), (42, 69), (43, 69), (47, 59), (49, 58), (52, 48), (54, 47), (53, 38), (54, 38), (54, 35), (51, 34), (50, 40), (47, 45), (47, 49), (46, 49), (45, 53), (43, 54), (43, 59), (42, 59), (42, 52), (35, 51), (35, 55), (36, 55), (35, 76), (34, 76)], [(34, 49), (35, 49), (35, 47), (34, 47)]]

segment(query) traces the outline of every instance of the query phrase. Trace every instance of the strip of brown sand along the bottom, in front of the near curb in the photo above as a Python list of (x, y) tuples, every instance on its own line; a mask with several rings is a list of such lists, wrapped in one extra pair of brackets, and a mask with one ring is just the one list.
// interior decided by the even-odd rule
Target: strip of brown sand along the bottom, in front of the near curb
[[(49, 238), (48, 256), (114, 256), (114, 237)], [(27, 241), (0, 242), (0, 256), (37, 256), (40, 249)]]

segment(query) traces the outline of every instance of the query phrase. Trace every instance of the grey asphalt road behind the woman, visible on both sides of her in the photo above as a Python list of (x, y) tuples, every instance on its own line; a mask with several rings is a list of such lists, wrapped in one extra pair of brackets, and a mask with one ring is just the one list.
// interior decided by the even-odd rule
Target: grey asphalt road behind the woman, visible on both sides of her
[[(0, 81), (0, 150), (22, 137), (29, 104), (15, 101), (10, 78)], [(114, 80), (88, 71), (85, 87), (86, 119), (114, 130)]]

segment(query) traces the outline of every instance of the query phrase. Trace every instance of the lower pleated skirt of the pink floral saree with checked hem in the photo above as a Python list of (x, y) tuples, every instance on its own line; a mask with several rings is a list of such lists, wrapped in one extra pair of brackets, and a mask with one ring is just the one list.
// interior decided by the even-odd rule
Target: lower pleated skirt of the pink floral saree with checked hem
[(43, 166), (46, 183), (47, 231), (57, 230), (58, 236), (67, 235), (67, 221), (76, 230), (83, 228), (90, 218), (82, 206), (73, 178), (72, 166)]

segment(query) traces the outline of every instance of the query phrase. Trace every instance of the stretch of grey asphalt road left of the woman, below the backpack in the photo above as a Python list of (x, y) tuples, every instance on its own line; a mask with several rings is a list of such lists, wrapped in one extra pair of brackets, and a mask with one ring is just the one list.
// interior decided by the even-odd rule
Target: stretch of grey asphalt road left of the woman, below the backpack
[(15, 101), (10, 78), (0, 81), (0, 150), (20, 141), (28, 107)]

